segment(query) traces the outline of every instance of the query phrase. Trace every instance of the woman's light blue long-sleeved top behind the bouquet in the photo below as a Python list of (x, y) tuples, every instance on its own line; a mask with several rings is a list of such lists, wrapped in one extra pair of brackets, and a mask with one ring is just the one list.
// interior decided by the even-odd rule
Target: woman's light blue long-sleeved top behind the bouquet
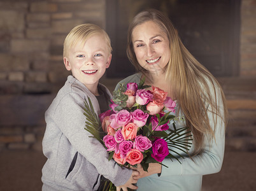
[[(124, 80), (120, 81), (116, 87), (119, 87), (120, 83), (124, 83), (125, 87), (127, 83), (135, 82), (139, 83), (141, 74), (133, 74), (128, 76)], [(211, 87), (210, 87), (211, 88)], [(217, 102), (220, 107), (220, 114), (224, 116), (223, 103), (220, 95), (220, 91), (217, 90)], [(178, 111), (178, 101), (176, 101), (176, 111)], [(175, 125), (176, 128), (184, 127), (185, 122), (182, 120), (183, 112), (171, 113), (176, 116)], [(210, 123), (213, 125), (212, 113), (208, 111), (208, 117)], [(216, 117), (216, 116), (215, 116)], [(162, 164), (167, 167), (162, 166), (162, 173), (160, 176), (157, 174), (152, 174), (146, 178), (139, 179), (138, 191), (141, 190), (171, 190), (171, 191), (199, 191), (201, 190), (202, 177), (205, 174), (218, 173), (222, 167), (222, 162), (224, 159), (224, 147), (225, 147), (225, 124), (220, 117), (217, 117), (217, 126), (215, 127), (215, 140), (209, 141), (205, 138), (204, 151), (200, 155), (194, 156), (191, 160), (188, 156), (183, 159), (180, 158), (181, 164), (173, 159), (164, 159)], [(169, 125), (169, 128), (173, 128)], [(192, 153), (194, 146), (190, 148), (189, 153)], [(181, 152), (179, 152), (181, 153)]]

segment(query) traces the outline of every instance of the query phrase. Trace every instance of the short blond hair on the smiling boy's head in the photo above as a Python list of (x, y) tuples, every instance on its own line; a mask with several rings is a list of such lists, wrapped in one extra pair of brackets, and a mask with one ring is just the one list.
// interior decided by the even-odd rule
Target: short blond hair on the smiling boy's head
[(103, 34), (104, 38), (106, 39), (106, 44), (108, 46), (109, 53), (111, 53), (111, 41), (106, 31), (104, 31), (103, 29), (101, 29), (101, 27), (94, 24), (82, 24), (74, 27), (69, 32), (68, 36), (66, 36), (66, 39), (64, 41), (63, 57), (68, 56), (69, 48), (76, 46), (78, 43), (84, 45), (85, 41), (87, 41), (87, 39), (90, 38), (90, 36), (97, 33)]

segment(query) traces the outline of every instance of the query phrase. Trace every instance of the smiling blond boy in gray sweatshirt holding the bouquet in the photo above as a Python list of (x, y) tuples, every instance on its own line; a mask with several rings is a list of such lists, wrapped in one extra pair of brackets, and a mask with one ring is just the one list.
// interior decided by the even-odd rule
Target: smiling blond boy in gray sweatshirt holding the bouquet
[(83, 24), (69, 32), (64, 41), (64, 64), (73, 76), (68, 76), (45, 113), (43, 153), (47, 161), (42, 169), (42, 190), (98, 190), (104, 178), (124, 190), (137, 188), (132, 176), (138, 172), (108, 161), (104, 146), (89, 138), (91, 134), (84, 129), (87, 96), (97, 114), (108, 110), (106, 100), (111, 94), (99, 79), (110, 61), (110, 39), (103, 29)]

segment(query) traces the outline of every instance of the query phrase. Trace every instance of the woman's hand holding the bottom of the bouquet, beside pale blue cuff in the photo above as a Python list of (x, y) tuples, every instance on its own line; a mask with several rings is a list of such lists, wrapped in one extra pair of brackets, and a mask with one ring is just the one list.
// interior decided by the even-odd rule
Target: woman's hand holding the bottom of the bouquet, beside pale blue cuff
[(162, 165), (159, 163), (150, 163), (148, 166), (148, 172), (143, 170), (141, 164), (138, 164), (138, 167), (131, 167), (132, 170), (139, 172), (139, 176), (134, 176), (134, 179), (138, 180), (139, 178), (144, 178), (152, 174), (157, 174), (162, 172)]

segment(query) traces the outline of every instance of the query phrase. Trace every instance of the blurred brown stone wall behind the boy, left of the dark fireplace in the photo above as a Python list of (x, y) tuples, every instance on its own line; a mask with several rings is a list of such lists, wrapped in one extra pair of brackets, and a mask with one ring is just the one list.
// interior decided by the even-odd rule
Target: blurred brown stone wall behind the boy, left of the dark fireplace
[(44, 113), (70, 74), (62, 46), (76, 25), (105, 27), (104, 0), (0, 1), (0, 150), (41, 149)]

